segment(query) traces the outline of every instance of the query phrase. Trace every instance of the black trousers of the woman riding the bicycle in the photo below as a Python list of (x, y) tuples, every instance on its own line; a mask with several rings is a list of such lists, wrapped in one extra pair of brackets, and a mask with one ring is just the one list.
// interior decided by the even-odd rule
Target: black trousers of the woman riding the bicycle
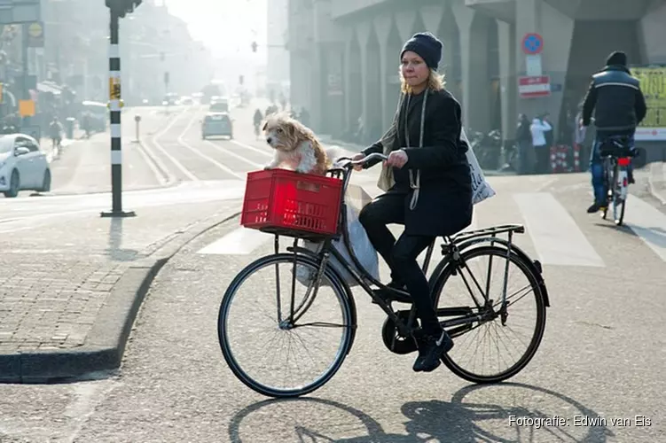
[(388, 223), (404, 224), (405, 198), (406, 194), (384, 194), (364, 206), (359, 220), (372, 245), (391, 269), (391, 280), (407, 286), (421, 319), (421, 327), (428, 333), (435, 333), (440, 330), (440, 325), (427, 278), (416, 260), (419, 253), (435, 241), (435, 237), (403, 233), (396, 241), (387, 227)]

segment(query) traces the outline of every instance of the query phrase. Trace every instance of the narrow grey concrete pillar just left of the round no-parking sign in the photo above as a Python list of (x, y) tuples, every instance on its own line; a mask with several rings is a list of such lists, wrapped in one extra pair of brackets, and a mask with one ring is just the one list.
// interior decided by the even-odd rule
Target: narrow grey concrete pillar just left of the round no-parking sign
[(518, 124), (518, 78), (515, 71), (515, 25), (498, 20), (500, 96), (502, 97), (502, 134), (512, 139)]

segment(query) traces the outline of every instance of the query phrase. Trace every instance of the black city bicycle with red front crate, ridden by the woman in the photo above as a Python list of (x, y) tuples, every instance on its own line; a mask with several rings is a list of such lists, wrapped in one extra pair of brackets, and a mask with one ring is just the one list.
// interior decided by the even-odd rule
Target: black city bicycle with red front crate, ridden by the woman
[[(357, 164), (364, 164), (364, 162), (372, 159), (387, 159), (386, 156), (382, 154), (371, 154), (364, 159), (357, 161), (352, 161), (349, 158), (338, 159), (336, 165), (329, 169), (329, 174), (331, 177), (318, 177), (318, 176), (308, 176), (302, 174), (296, 174), (289, 171), (283, 171), (279, 175), (289, 175), (293, 176), (294, 180), (298, 183), (306, 182), (310, 180), (317, 180), (326, 178), (327, 180), (337, 179), (341, 182), (339, 194), (336, 195), (338, 202), (336, 203), (335, 211), (336, 215), (333, 218), (333, 229), (330, 229), (332, 232), (328, 234), (311, 234), (306, 232), (302, 227), (305, 224), (299, 217), (289, 218), (290, 222), (302, 223), (301, 228), (299, 229), (287, 229), (280, 226), (263, 226), (260, 230), (264, 232), (270, 232), (274, 234), (274, 252), (263, 256), (255, 260), (254, 262), (247, 265), (246, 268), (243, 268), (237, 276), (231, 281), (231, 284), (224, 293), (222, 303), (219, 310), (218, 322), (217, 322), (217, 332), (220, 346), (222, 348), (222, 354), (224, 360), (229, 365), (233, 374), (239, 378), (239, 380), (247, 385), (249, 388), (255, 392), (259, 392), (262, 395), (269, 397), (298, 397), (309, 392), (317, 390), (319, 387), (325, 385), (333, 375), (340, 369), (342, 362), (345, 360), (345, 357), (349, 354), (351, 347), (354, 343), (357, 331), (357, 308), (354, 296), (349, 287), (349, 284), (341, 276), (341, 268), (347, 271), (349, 275), (353, 276), (353, 280), (357, 285), (360, 285), (361, 288), (373, 299), (387, 315), (382, 330), (381, 336), (384, 346), (388, 348), (391, 352), (395, 354), (410, 354), (418, 350), (417, 347), (417, 338), (414, 336), (414, 332), (419, 330), (419, 322), (417, 321), (416, 309), (412, 306), (409, 310), (396, 310), (394, 311), (393, 302), (394, 300), (385, 301), (384, 299), (378, 297), (373, 293), (371, 284), (383, 288), (388, 291), (392, 291), (398, 296), (409, 297), (404, 291), (398, 291), (388, 286), (381, 284), (380, 281), (374, 279), (371, 275), (360, 264), (354, 249), (350, 244), (349, 236), (342, 235), (343, 232), (348, 232), (348, 219), (347, 219), (347, 208), (344, 202), (345, 190), (349, 185), (349, 178), (351, 175), (352, 168)], [(261, 171), (256, 173), (250, 173), (248, 175), (248, 184), (246, 191), (246, 202), (255, 198), (258, 192), (256, 190), (250, 190), (249, 182), (251, 180), (251, 175), (263, 174), (268, 175), (270, 171)], [(275, 173), (276, 175), (278, 173)], [(314, 177), (314, 178), (311, 178)], [(263, 179), (263, 176), (262, 176)], [(259, 180), (258, 178), (256, 180)], [(278, 178), (275, 178), (278, 180)], [(314, 186), (314, 184), (310, 185)], [(322, 187), (323, 184), (318, 186)], [(307, 186), (299, 184), (294, 185), (294, 188), (304, 189)], [(323, 188), (320, 189), (323, 192)], [(281, 191), (282, 192), (282, 191)], [(289, 192), (282, 192), (283, 194), (289, 194)], [(262, 194), (265, 195), (265, 192)], [(276, 194), (277, 195), (277, 194)], [(271, 197), (272, 202), (275, 202), (276, 197)], [(284, 198), (284, 197), (283, 197)], [(291, 197), (293, 198), (293, 195)], [(321, 200), (322, 198), (319, 198)], [(254, 201), (254, 200), (253, 200)], [(257, 200), (258, 201), (258, 200)], [(268, 201), (268, 200), (267, 200)], [(312, 199), (315, 201), (315, 198)], [(254, 208), (255, 206), (264, 206), (263, 203), (246, 203), (244, 202), (244, 214), (249, 212), (249, 207)], [(267, 203), (270, 204), (270, 203)], [(290, 206), (294, 208), (295, 206)], [(316, 212), (316, 206), (308, 206), (307, 204), (300, 205), (302, 207), (309, 207), (309, 211)], [(340, 210), (338, 209), (340, 208)], [(288, 212), (288, 211), (286, 211)], [(261, 218), (262, 221), (265, 221), (267, 217), (265, 214), (262, 214), (258, 218)], [(248, 222), (250, 217), (248, 216), (245, 221), (241, 217), (241, 224), (248, 227), (252, 223)], [(440, 323), (443, 328), (445, 328), (448, 333), (451, 335), (451, 338), (459, 340), (469, 334), (473, 330), (477, 330), (482, 326), (488, 326), (486, 331), (490, 329), (490, 323), (494, 324), (498, 328), (500, 325), (495, 323), (496, 319), (499, 320), (498, 323), (501, 323), (503, 329), (506, 333), (506, 330), (510, 329), (507, 327), (507, 318), (509, 316), (508, 307), (513, 307), (516, 302), (520, 301), (526, 294), (522, 294), (525, 290), (531, 290), (534, 293), (534, 311), (536, 312), (536, 319), (533, 326), (529, 326), (529, 334), (531, 336), (526, 341), (528, 343), (527, 348), (522, 351), (522, 354), (518, 356), (516, 361), (508, 366), (504, 370), (493, 373), (481, 373), (475, 369), (469, 369), (463, 366), (463, 362), (458, 360), (457, 350), (461, 351), (462, 346), (455, 346), (451, 349), (451, 352), (444, 354), (442, 357), (443, 364), (451, 370), (455, 375), (466, 379), (467, 381), (486, 384), (486, 383), (498, 383), (507, 378), (513, 377), (521, 369), (525, 368), (532, 357), (536, 354), (537, 348), (541, 342), (541, 339), (544, 335), (545, 330), (545, 314), (546, 307), (550, 307), (550, 302), (548, 299), (548, 291), (545, 286), (545, 281), (542, 276), (542, 267), (538, 260), (531, 260), (529, 256), (524, 253), (519, 247), (513, 245), (513, 235), (518, 233), (523, 233), (525, 229), (521, 225), (501, 225), (490, 227), (486, 229), (476, 229), (472, 231), (462, 231), (458, 234), (445, 237), (444, 244), (442, 245), (442, 254), (443, 260), (441, 260), (434, 271), (428, 278), (432, 294), (433, 302), (436, 307), (437, 316), (440, 318)], [(505, 234), (507, 239), (498, 237), (499, 234)], [(293, 245), (286, 247), (286, 252), (280, 252), (279, 237), (293, 237)], [(341, 252), (333, 247), (333, 240), (342, 238), (343, 244), (348, 250), (349, 257), (353, 264), (349, 263), (341, 255)], [(312, 252), (309, 249), (303, 248), (298, 245), (300, 239), (317, 239), (321, 241), (322, 247), (318, 253)], [(427, 248), (426, 257), (422, 266), (422, 269), (425, 274), (430, 265), (432, 259), (432, 254), (435, 249), (435, 242), (433, 242)], [(476, 276), (470, 271), (469, 264), (478, 258), (489, 258), (490, 263), (488, 266), (488, 275), (489, 279), (485, 287), (482, 287), (482, 284), (479, 283)], [(337, 263), (340, 264), (340, 267), (333, 266), (332, 259), (337, 260)], [(500, 273), (502, 273), (504, 280), (501, 284), (501, 288), (498, 291), (490, 292), (490, 271), (492, 270), (492, 261), (505, 260), (504, 268), (499, 267)], [(279, 272), (278, 265), (286, 264), (292, 267), (290, 272), (291, 274), (291, 296), (286, 297), (286, 302), (289, 303), (288, 312), (286, 315), (282, 315), (282, 301), (280, 295), (279, 287)], [(509, 267), (513, 265), (513, 268), (521, 273), (525, 277), (526, 284), (519, 291), (515, 291), (507, 296), (507, 285), (508, 285), (508, 276), (509, 276)], [(264, 307), (264, 303), (250, 303), (247, 307), (240, 308), (240, 321), (246, 322), (246, 328), (249, 328), (245, 334), (240, 334), (236, 338), (232, 333), (230, 333), (230, 323), (231, 313), (235, 309), (233, 307), (237, 296), (239, 293), (242, 293), (242, 285), (246, 283), (249, 277), (259, 273), (263, 268), (270, 268), (275, 266), (275, 276), (272, 276), (272, 273), (268, 276), (260, 278), (259, 285), (265, 286), (273, 278), (278, 284), (278, 290), (275, 291), (274, 297), (278, 310), (278, 319), (277, 319), (277, 334), (280, 331), (286, 331), (286, 333), (295, 332), (299, 329), (305, 329), (306, 327), (315, 327), (321, 326), (324, 330), (341, 330), (341, 338), (339, 341), (339, 346), (334, 350), (333, 361), (328, 363), (328, 366), (325, 369), (322, 369), (317, 376), (305, 382), (301, 385), (285, 385), (284, 386), (275, 386), (267, 385), (266, 382), (258, 380), (257, 377), (252, 376), (247, 369), (247, 365), (244, 366), (239, 363), (239, 358), (245, 356), (245, 351), (248, 346), (251, 346), (250, 340), (253, 338), (259, 339), (258, 328), (262, 326), (265, 322), (264, 315), (259, 315), (259, 320), (253, 322), (248, 321), (248, 315), (254, 315)], [(307, 290), (302, 299), (297, 303), (294, 295), (297, 281), (297, 267), (309, 269), (310, 278), (307, 281)], [(515, 270), (515, 269), (512, 269)], [(466, 274), (468, 277), (466, 277)], [(454, 277), (461, 277), (462, 284), (460, 291), (465, 289), (468, 291), (471, 300), (467, 300), (464, 304), (455, 304), (452, 303), (451, 306), (439, 307), (440, 301), (446, 302), (448, 299), (451, 299), (456, 292), (448, 291), (446, 296), (443, 297), (443, 288), (446, 286), (447, 289), (451, 287), (451, 284), (455, 282), (450, 282)], [(301, 281), (299, 281), (302, 283)], [(306, 284), (302, 284), (306, 286)], [(250, 286), (249, 293), (253, 296), (256, 295), (256, 287)], [(333, 291), (333, 297), (337, 299), (338, 304), (341, 307), (341, 321), (340, 323), (334, 322), (309, 322), (309, 323), (299, 323), (303, 316), (313, 308), (313, 304), (320, 290), (330, 289)], [(481, 295), (475, 295), (475, 291)], [(271, 297), (273, 297), (271, 291)], [(325, 297), (325, 296), (321, 296)], [(240, 301), (241, 305), (243, 303), (242, 299)], [(530, 309), (531, 311), (531, 309)], [(324, 315), (331, 315), (333, 312), (333, 305), (325, 305), (323, 309)], [(520, 320), (520, 315), (516, 317), (516, 320)], [(309, 330), (308, 330), (309, 332)], [(289, 336), (289, 354), (291, 354), (292, 344), (294, 347), (302, 343), (302, 338), (298, 337), (298, 340), (291, 341), (291, 336)], [(259, 339), (259, 353), (261, 358), (266, 357), (267, 351), (272, 350), (275, 346), (271, 341), (268, 345), (265, 340)], [(238, 346), (238, 350), (234, 349)], [(475, 346), (478, 347), (478, 344)], [(499, 348), (498, 348), (499, 349)], [(295, 354), (295, 351), (294, 351)], [(316, 363), (312, 355), (309, 354), (313, 363)], [(289, 355), (287, 355), (286, 364), (288, 364)], [(251, 359), (255, 361), (255, 359)], [(266, 363), (262, 369), (268, 373), (269, 376), (272, 376), (280, 369), (281, 365), (274, 365), (272, 361)], [(258, 369), (261, 371), (262, 369)]]

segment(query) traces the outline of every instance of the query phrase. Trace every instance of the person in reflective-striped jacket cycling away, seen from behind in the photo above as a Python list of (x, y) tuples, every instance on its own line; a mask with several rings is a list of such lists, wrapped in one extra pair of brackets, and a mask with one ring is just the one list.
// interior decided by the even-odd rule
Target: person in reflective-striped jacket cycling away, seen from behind
[[(645, 118), (647, 108), (639, 79), (633, 77), (627, 68), (627, 56), (622, 51), (615, 51), (606, 60), (606, 66), (592, 75), (592, 82), (583, 104), (582, 127), (590, 126), (594, 112), (594, 125), (597, 134), (592, 144), (590, 172), (594, 203), (587, 208), (590, 214), (607, 206), (606, 186), (603, 178), (603, 164), (599, 147), (609, 138), (628, 136), (631, 149), (634, 145), (636, 127)], [(629, 183), (634, 183), (633, 168), (627, 168)]]

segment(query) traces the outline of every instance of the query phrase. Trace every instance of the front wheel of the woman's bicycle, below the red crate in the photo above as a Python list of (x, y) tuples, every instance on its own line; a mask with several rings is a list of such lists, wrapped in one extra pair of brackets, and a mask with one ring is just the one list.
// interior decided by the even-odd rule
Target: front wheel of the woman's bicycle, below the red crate
[(349, 353), (355, 311), (331, 268), (313, 291), (317, 268), (304, 255), (269, 255), (240, 271), (224, 293), (217, 320), (222, 354), (255, 392), (276, 398), (313, 392)]

